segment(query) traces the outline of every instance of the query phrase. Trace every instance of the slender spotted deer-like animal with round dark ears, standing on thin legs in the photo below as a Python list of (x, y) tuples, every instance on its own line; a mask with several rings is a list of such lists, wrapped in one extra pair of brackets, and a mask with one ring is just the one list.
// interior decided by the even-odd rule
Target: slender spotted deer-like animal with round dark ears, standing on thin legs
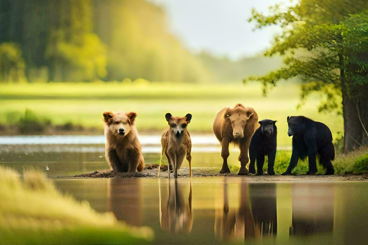
[[(174, 172), (174, 177), (178, 177), (177, 170), (180, 169), (183, 163), (185, 155), (189, 162), (190, 177), (192, 177), (191, 160), (192, 156), (190, 152), (192, 150), (192, 141), (190, 139), (189, 132), (187, 130), (187, 125), (192, 119), (191, 114), (182, 117), (174, 117), (170, 113), (165, 115), (166, 121), (169, 122), (170, 128), (163, 132), (161, 136), (162, 152), (165, 152), (167, 160), (169, 161), (170, 169)], [(161, 166), (161, 160), (160, 160)], [(160, 175), (160, 170), (157, 176)], [(170, 172), (169, 172), (170, 178)]]

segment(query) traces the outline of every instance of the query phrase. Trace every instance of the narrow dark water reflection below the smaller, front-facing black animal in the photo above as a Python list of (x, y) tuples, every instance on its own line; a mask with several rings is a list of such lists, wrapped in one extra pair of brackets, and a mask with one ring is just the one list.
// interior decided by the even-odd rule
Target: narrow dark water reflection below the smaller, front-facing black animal
[(250, 189), (256, 231), (261, 237), (276, 234), (276, 184), (251, 184)]

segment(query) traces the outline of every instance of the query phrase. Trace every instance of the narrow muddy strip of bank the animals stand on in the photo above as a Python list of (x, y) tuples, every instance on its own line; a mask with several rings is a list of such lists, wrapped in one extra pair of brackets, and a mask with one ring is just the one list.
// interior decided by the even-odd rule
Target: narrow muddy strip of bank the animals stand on
[[(368, 173), (362, 174), (343, 174), (343, 175), (255, 175), (248, 174), (239, 176), (236, 173), (230, 174), (220, 174), (220, 168), (218, 167), (192, 167), (193, 177), (210, 177), (210, 176), (232, 176), (232, 177), (242, 177), (249, 179), (251, 181), (359, 181), (368, 182)], [(161, 166), (160, 177), (167, 178), (167, 165)], [(92, 178), (124, 178), (124, 179), (134, 179), (138, 177), (157, 177), (158, 165), (146, 165), (142, 172), (135, 173), (113, 173), (110, 169), (104, 169), (100, 171), (95, 171), (92, 173), (79, 174), (74, 177), (92, 177)], [(189, 168), (181, 167), (178, 171), (179, 178), (189, 177)], [(170, 177), (173, 177), (171, 173)]]

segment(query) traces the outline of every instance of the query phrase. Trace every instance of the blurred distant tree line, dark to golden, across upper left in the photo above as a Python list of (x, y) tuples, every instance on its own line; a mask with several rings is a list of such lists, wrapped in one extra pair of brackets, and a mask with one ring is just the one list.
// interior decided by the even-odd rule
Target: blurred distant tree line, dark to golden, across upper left
[(0, 80), (209, 80), (144, 0), (0, 0)]

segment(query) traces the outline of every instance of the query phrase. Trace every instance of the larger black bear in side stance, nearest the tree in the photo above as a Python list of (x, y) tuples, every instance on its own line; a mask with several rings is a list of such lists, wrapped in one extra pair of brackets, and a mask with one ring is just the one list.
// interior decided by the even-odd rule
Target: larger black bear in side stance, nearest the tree
[(287, 135), (293, 136), (293, 153), (289, 167), (282, 175), (289, 175), (299, 159), (308, 156), (309, 170), (307, 174), (317, 172), (316, 154), (319, 163), (327, 170), (326, 174), (334, 174), (331, 160), (335, 159), (335, 148), (332, 144), (331, 130), (321, 122), (315, 122), (305, 116), (288, 116), (289, 130)]

